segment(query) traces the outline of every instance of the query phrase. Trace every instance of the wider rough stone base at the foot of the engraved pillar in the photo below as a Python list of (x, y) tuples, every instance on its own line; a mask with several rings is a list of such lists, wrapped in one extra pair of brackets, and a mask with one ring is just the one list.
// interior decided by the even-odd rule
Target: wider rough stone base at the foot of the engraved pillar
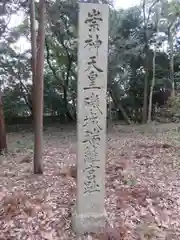
[(75, 208), (72, 209), (72, 228), (77, 235), (84, 233), (100, 233), (104, 231), (107, 217), (104, 214), (77, 214)]

